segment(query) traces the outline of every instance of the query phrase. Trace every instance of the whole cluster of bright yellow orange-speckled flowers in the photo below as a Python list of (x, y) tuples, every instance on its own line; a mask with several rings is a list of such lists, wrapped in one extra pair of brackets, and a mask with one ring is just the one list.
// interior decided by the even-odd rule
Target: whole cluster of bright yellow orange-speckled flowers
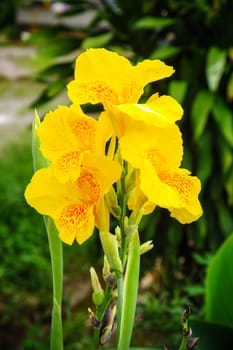
[[(160, 206), (181, 223), (201, 216), (200, 181), (180, 167), (183, 145), (175, 122), (181, 106), (158, 93), (139, 103), (148, 83), (172, 73), (159, 60), (133, 66), (105, 49), (77, 58), (68, 84), (72, 104), (49, 112), (38, 128), (50, 164), (36, 171), (25, 191), (27, 202), (54, 220), (64, 242), (83, 243), (95, 226), (109, 231), (117, 195), (111, 205), (109, 198), (123, 173), (129, 210), (148, 214)], [(98, 119), (83, 113), (86, 103), (103, 105)]]

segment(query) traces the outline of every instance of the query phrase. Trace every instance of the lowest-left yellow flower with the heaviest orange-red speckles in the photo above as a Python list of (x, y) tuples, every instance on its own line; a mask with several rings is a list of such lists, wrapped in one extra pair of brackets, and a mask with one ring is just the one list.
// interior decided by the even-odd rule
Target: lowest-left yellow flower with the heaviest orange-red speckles
[[(43, 168), (32, 177), (25, 198), (39, 213), (54, 220), (63, 242), (72, 244), (76, 238), (82, 244), (98, 225), (95, 218), (102, 216), (100, 202), (120, 174), (117, 162), (88, 152), (75, 182), (61, 183), (52, 167)], [(109, 215), (106, 211), (104, 214)], [(108, 222), (108, 218), (103, 220)]]

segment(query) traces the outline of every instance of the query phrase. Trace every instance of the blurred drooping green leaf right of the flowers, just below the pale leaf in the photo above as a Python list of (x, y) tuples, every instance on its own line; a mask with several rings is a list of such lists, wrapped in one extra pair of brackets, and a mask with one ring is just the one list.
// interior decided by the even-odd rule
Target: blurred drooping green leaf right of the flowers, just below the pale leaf
[(205, 129), (210, 110), (213, 105), (213, 94), (208, 90), (200, 90), (194, 99), (191, 118), (194, 140), (198, 140)]

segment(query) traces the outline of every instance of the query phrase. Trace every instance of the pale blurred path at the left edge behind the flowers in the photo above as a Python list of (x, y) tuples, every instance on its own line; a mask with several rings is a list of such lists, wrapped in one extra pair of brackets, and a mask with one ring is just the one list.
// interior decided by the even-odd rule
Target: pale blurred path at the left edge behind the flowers
[[(34, 111), (29, 105), (44, 88), (33, 79), (35, 49), (23, 46), (0, 47), (0, 151), (31, 124)], [(58, 97), (59, 103), (67, 103), (65, 91)], [(58, 101), (39, 108), (39, 115), (52, 109)]]

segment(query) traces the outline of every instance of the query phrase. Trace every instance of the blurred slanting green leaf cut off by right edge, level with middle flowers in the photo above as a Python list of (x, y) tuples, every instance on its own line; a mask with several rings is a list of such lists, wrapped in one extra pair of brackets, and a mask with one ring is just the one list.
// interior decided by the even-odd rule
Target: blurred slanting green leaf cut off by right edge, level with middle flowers
[(233, 113), (220, 96), (217, 96), (213, 105), (213, 116), (221, 133), (233, 147)]

